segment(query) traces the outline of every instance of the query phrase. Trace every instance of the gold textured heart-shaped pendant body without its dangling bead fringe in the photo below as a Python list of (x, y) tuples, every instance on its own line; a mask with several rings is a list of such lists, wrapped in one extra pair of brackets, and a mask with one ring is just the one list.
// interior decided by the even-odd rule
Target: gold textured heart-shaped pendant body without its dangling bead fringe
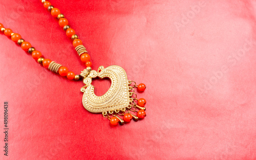
[[(86, 69), (83, 74), (87, 74), (87, 76), (83, 79), (86, 86), (81, 88), (81, 92), (83, 92), (82, 104), (89, 112), (115, 111), (129, 106), (129, 84), (126, 72), (122, 67), (113, 65), (104, 68), (100, 66), (98, 71)], [(91, 84), (92, 78), (96, 77), (109, 77), (111, 79), (110, 89), (102, 96), (95, 95), (94, 86)]]

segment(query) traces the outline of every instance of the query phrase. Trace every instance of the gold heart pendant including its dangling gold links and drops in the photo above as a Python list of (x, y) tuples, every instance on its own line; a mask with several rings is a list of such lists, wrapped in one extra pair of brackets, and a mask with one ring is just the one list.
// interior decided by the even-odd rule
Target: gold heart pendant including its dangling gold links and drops
[[(126, 72), (122, 67), (112, 65), (104, 68), (100, 66), (98, 71), (91, 70), (89, 67), (84, 69), (80, 75), (84, 78), (83, 83), (86, 85), (81, 88), (81, 92), (83, 92), (82, 104), (89, 112), (102, 113), (104, 117), (110, 120), (116, 117), (117, 121), (123, 124), (124, 121), (120, 116), (127, 113), (131, 114), (130, 111), (138, 113), (136, 109), (145, 111), (143, 106), (135, 103), (138, 99), (134, 88), (138, 85), (134, 81), (128, 81)], [(94, 86), (91, 84), (93, 78), (96, 77), (109, 77), (111, 79), (110, 89), (102, 96), (95, 95)], [(133, 83), (134, 85), (131, 86)], [(131, 116), (136, 121), (139, 119), (136, 115), (131, 114)], [(124, 120), (126, 119), (124, 118)]]

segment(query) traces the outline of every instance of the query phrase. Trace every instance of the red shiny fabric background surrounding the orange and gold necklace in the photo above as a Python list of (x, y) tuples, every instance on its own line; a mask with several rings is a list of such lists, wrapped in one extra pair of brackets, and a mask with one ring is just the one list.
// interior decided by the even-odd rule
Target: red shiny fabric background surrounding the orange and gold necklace
[[(0, 34), (9, 159), (255, 159), (255, 1), (52, 1), (98, 66), (145, 83), (144, 120), (111, 127), (82, 82), (41, 67)], [(0, 1), (0, 22), (79, 73), (72, 41), (40, 1)], [(108, 81), (95, 82), (97, 94)], [(3, 108), (0, 110), (3, 128)], [(2, 131), (1, 131), (2, 132)], [(4, 134), (0, 134), (1, 147)], [(7, 158), (1, 151), (1, 157)]]

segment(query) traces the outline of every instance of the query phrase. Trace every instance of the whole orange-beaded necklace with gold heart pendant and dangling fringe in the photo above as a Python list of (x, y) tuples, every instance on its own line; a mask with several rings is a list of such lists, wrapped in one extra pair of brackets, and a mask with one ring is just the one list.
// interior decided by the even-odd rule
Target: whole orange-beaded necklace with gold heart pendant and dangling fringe
[[(22, 39), (18, 33), (13, 33), (11, 29), (5, 29), (4, 25), (0, 23), (0, 29), (7, 37), (11, 37), (12, 41), (22, 47), (24, 51), (28, 51), (32, 58), (37, 60), (39, 64), (48, 68), (49, 70), (66, 76), (68, 79), (79, 80), (83, 79), (83, 86), (80, 91), (83, 92), (82, 104), (86, 110), (92, 113), (102, 113), (103, 117), (110, 120), (111, 125), (128, 123), (132, 119), (138, 121), (146, 116), (145, 107), (146, 100), (144, 98), (137, 99), (135, 88), (139, 92), (146, 89), (144, 84), (137, 85), (134, 81), (127, 79), (125, 70), (117, 65), (112, 65), (104, 68), (99, 66), (98, 70), (92, 70), (91, 57), (86, 48), (82, 45), (82, 41), (78, 39), (75, 31), (70, 27), (68, 20), (59, 9), (54, 8), (50, 2), (41, 0), (44, 7), (51, 13), (54, 18), (59, 20), (59, 25), (66, 32), (67, 37), (73, 40), (73, 46), (77, 51), (81, 61), (86, 64), (87, 68), (81, 71), (80, 74), (75, 74), (65, 66), (55, 63), (50, 59), (45, 59), (41, 52), (36, 50), (32, 45)], [(94, 93), (94, 86), (91, 84), (93, 78), (111, 79), (110, 89), (102, 96), (96, 96)], [(122, 117), (122, 118), (121, 118)]]

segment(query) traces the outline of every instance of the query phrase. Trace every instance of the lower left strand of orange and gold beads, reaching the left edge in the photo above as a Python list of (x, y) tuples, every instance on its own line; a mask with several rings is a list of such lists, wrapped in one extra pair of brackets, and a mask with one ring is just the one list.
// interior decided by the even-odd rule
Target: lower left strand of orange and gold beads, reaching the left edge
[(2, 23), (0, 23), (0, 29), (7, 37), (11, 37), (13, 42), (20, 45), (24, 51), (28, 51), (32, 58), (45, 68), (48, 68), (49, 70), (58, 73), (61, 76), (67, 76), (68, 79), (78, 80), (80, 78), (79, 75), (75, 75), (74, 72), (69, 71), (67, 67), (63, 67), (62, 65), (57, 64), (50, 59), (44, 59), (40, 51), (32, 47), (29, 42), (26, 42), (24, 39), (22, 39), (22, 36), (20, 36), (18, 33), (13, 33), (11, 29), (5, 29)]

